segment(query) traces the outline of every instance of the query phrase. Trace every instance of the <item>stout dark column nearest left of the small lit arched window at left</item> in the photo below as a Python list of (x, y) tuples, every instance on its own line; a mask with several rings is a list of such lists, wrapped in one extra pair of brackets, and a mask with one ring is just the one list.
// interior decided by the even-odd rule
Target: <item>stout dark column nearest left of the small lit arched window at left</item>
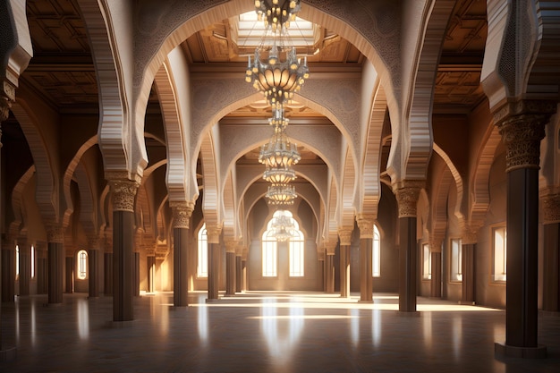
[(63, 302), (64, 234), (62, 225), (47, 226), (48, 303)]

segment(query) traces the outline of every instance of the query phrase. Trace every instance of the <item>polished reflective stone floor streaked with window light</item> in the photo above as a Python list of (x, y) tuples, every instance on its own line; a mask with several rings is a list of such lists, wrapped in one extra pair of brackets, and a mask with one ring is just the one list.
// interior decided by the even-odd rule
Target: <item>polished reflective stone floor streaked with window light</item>
[(539, 315), (545, 360), (496, 359), (505, 312), (419, 298), (417, 317), (395, 294), (360, 303), (320, 292), (246, 292), (174, 308), (173, 294), (135, 299), (112, 321), (112, 298), (64, 294), (2, 305), (0, 372), (560, 372), (560, 317)]

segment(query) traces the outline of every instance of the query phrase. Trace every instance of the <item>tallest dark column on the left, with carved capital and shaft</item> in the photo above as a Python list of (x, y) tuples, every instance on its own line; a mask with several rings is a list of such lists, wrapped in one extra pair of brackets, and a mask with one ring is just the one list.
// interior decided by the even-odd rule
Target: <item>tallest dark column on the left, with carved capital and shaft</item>
[(134, 198), (140, 182), (110, 180), (113, 204), (113, 320), (134, 319)]

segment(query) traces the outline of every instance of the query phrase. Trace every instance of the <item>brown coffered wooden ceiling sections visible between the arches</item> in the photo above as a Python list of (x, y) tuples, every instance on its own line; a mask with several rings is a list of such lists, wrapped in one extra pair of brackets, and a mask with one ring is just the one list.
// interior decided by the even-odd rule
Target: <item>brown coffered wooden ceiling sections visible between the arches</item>
[[(98, 89), (88, 38), (75, 0), (28, 1), (27, 14), (34, 56), (21, 80), (61, 113), (98, 111)], [(230, 39), (230, 22), (208, 25), (188, 38), (182, 48), (191, 64), (231, 64), (244, 72), (246, 57), (236, 55)], [(361, 68), (364, 57), (344, 38), (321, 30), (319, 53), (309, 58), (321, 70)], [(434, 113), (469, 113), (484, 99), (480, 70), (487, 36), (486, 1), (460, 0), (445, 36), (437, 72)], [(157, 96), (151, 96), (157, 106)], [(243, 107), (230, 116), (262, 116), (262, 103)], [(290, 115), (318, 116), (307, 107), (293, 105)]]

